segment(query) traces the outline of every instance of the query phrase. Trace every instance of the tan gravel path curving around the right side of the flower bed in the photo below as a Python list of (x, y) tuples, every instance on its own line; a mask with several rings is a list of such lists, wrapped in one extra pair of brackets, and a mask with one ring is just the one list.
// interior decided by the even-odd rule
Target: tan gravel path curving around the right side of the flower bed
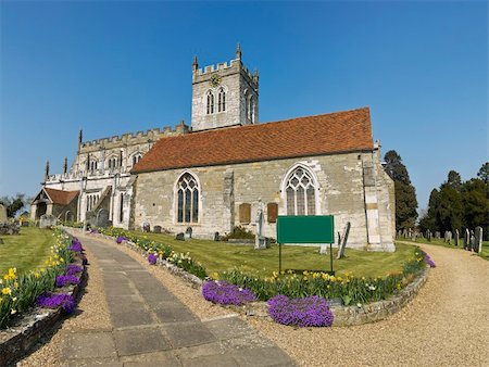
[(250, 324), (303, 366), (489, 366), (489, 262), (422, 244), (437, 264), (418, 295), (387, 320), (349, 328)]

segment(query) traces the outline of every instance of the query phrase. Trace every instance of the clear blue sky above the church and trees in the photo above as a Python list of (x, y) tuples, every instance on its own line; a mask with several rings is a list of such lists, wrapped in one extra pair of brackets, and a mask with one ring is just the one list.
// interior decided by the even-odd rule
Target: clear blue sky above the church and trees
[(190, 123), (191, 62), (260, 72), (260, 121), (368, 105), (421, 207), (488, 160), (485, 1), (13, 2), (1, 10), (0, 195), (84, 140)]

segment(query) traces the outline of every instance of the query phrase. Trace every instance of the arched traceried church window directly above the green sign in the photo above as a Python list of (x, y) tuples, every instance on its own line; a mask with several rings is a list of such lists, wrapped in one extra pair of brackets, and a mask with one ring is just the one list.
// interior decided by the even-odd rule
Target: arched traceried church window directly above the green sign
[(287, 215), (316, 214), (316, 184), (305, 168), (293, 169), (285, 185)]

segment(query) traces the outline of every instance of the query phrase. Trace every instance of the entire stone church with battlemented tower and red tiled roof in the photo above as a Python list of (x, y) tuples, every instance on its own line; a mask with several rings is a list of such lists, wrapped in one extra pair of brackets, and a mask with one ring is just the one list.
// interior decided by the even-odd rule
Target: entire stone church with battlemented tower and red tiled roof
[(48, 175), (45, 188), (78, 191), (78, 220), (105, 207), (114, 226), (213, 238), (236, 226), (254, 232), (260, 212), (274, 238), (278, 215), (334, 215), (337, 231), (351, 224), (349, 248), (394, 251), (393, 181), (368, 107), (259, 123), (259, 75), (238, 46), (229, 63), (202, 69), (195, 59), (191, 109), (190, 128), (156, 129), (149, 143), (80, 139), (71, 172)]

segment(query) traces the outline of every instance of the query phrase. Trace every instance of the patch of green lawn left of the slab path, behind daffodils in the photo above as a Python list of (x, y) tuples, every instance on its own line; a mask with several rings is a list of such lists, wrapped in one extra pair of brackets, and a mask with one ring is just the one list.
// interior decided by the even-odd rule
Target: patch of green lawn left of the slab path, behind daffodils
[(17, 274), (42, 266), (49, 257), (50, 246), (55, 238), (49, 229), (22, 227), (18, 235), (0, 236), (4, 243), (0, 244), (0, 275), (10, 267), (16, 267)]

